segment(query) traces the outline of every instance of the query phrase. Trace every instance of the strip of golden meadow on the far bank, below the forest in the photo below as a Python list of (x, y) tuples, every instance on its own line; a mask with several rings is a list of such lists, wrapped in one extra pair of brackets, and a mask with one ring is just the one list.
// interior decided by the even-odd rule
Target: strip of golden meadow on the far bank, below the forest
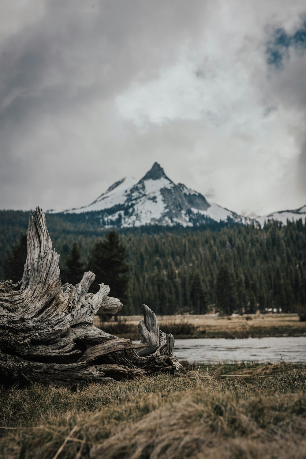
[[(115, 336), (141, 339), (138, 323), (141, 316), (120, 316), (118, 322), (103, 322), (95, 318), (94, 325)], [(175, 338), (263, 338), (306, 336), (306, 322), (297, 314), (248, 314), (237, 317), (204, 315), (158, 316), (160, 330)]]

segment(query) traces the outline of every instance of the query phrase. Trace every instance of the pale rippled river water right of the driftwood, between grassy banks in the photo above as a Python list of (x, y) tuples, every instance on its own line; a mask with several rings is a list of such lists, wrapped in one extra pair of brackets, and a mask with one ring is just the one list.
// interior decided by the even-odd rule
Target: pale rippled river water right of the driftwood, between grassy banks
[(175, 340), (179, 360), (198, 363), (232, 361), (306, 363), (306, 336), (281, 338), (198, 338)]

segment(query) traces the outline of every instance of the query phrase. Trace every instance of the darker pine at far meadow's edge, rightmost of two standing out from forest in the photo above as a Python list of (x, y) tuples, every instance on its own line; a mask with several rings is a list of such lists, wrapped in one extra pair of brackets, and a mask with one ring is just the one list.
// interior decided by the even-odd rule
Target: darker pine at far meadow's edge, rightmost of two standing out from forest
[(217, 274), (217, 305), (224, 314), (231, 315), (237, 307), (237, 295), (228, 266), (223, 263)]

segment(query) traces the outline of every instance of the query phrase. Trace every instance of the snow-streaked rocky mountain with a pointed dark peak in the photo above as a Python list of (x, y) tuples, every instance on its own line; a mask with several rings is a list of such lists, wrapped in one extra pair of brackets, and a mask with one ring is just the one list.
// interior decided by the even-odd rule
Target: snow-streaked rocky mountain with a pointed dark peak
[[(155, 162), (153, 167), (137, 181), (125, 177), (115, 182), (94, 202), (64, 213), (98, 213), (103, 227), (137, 227), (146, 224), (163, 226), (198, 226), (208, 221), (229, 221), (250, 224), (251, 218), (209, 203), (197, 191), (175, 184)], [(49, 211), (56, 213), (56, 211)]]

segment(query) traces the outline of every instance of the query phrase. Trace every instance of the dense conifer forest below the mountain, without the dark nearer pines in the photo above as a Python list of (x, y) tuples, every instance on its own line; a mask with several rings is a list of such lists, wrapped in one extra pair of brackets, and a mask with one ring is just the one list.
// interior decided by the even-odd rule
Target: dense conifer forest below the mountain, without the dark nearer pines
[[(14, 250), (22, 252), (17, 249), (28, 215), (0, 212), (1, 278)], [(68, 281), (69, 260), (77, 258), (78, 269), (87, 269), (97, 242), (109, 235), (96, 221), (65, 217), (46, 215), (63, 279)], [(262, 229), (215, 224), (197, 229), (150, 226), (117, 233), (125, 247), (126, 256), (121, 256), (128, 279), (123, 314), (141, 313), (143, 302), (158, 314), (201, 314), (213, 309), (225, 314), (255, 313), (270, 308), (291, 313), (306, 304), (306, 222), (302, 220), (286, 226), (268, 223)]]

